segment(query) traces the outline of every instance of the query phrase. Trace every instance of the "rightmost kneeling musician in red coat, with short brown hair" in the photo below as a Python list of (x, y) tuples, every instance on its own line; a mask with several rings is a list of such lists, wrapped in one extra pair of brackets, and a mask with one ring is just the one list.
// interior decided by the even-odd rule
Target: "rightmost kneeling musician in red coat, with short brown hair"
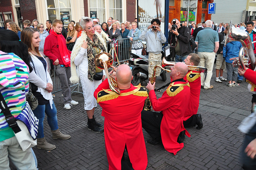
[[(198, 66), (200, 57), (196, 53), (190, 53), (184, 60), (186, 65)], [(201, 90), (201, 76), (200, 71), (188, 71), (184, 79), (188, 80), (190, 85), (190, 100), (188, 108), (184, 113), (184, 127), (196, 127), (200, 129), (203, 127), (201, 114), (196, 114), (199, 107), (200, 90)]]

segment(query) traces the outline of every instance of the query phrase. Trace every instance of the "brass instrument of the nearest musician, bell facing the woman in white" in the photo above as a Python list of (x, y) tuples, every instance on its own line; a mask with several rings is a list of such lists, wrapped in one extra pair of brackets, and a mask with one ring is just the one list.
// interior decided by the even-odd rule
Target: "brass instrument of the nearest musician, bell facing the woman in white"
[(104, 69), (106, 72), (106, 76), (108, 77), (108, 84), (110, 89), (115, 92), (116, 94), (120, 95), (120, 89), (118, 88), (118, 85), (116, 83), (116, 80), (114, 77), (112, 77), (108, 73), (108, 68), (113, 64), (113, 57), (109, 53), (103, 52), (99, 53), (95, 57), (95, 65), (99, 69)]

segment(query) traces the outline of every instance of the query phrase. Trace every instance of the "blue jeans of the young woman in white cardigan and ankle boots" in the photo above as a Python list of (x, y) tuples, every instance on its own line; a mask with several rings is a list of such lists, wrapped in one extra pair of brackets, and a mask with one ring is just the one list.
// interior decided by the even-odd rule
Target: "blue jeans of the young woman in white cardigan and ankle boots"
[(46, 113), (47, 115), (47, 122), (51, 130), (58, 129), (57, 110), (53, 101), (52, 101), (52, 109), (51, 109), (50, 103), (47, 103), (46, 105), (38, 105), (38, 107), (36, 107), (36, 109), (33, 110), (33, 113), (39, 120), (37, 138), (44, 137), (44, 113)]

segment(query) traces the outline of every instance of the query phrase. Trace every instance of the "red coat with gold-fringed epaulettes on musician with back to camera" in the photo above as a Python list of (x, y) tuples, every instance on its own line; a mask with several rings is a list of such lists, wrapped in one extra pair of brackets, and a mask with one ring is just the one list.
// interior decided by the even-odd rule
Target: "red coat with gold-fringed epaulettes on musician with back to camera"
[(121, 158), (126, 144), (132, 167), (145, 170), (148, 164), (146, 146), (142, 133), (141, 111), (148, 93), (144, 87), (133, 86), (117, 95), (109, 89), (108, 80), (103, 81), (94, 92), (102, 107), (104, 136), (109, 169), (120, 170)]

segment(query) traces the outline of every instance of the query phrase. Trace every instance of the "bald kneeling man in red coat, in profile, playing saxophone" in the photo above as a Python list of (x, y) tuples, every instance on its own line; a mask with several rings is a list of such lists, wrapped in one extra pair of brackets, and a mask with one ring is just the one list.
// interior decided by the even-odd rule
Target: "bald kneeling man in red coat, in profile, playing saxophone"
[(170, 76), (172, 82), (157, 99), (154, 92), (154, 84), (148, 83), (146, 88), (149, 90), (149, 98), (154, 111), (160, 113), (142, 111), (142, 127), (150, 134), (152, 139), (150, 144), (157, 144), (162, 140), (164, 148), (174, 155), (184, 147), (183, 143), (178, 143), (180, 132), (190, 137), (190, 134), (183, 126), (184, 113), (188, 107), (190, 98), (190, 88), (188, 81), (184, 80), (188, 73), (188, 66), (178, 62), (171, 68)]

